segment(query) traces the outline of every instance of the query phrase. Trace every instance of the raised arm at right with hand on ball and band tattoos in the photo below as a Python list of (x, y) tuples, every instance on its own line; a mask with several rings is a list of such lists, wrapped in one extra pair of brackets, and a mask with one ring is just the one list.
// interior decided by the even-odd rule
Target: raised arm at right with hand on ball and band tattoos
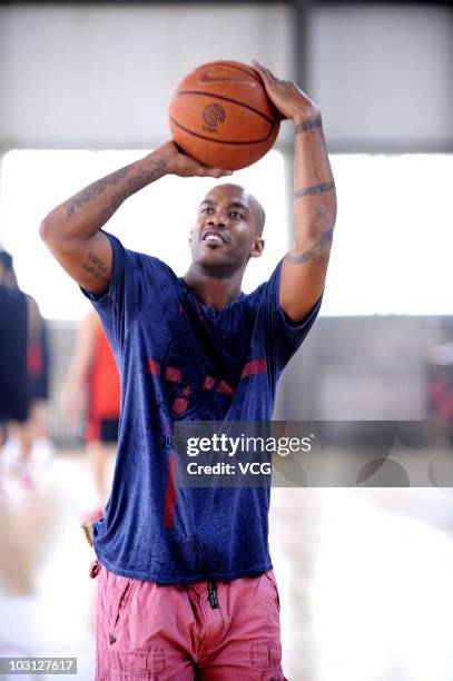
[(295, 245), (283, 263), (279, 299), (288, 317), (298, 322), (324, 289), (336, 218), (335, 182), (319, 109), (293, 82), (275, 78), (258, 62), (254, 67), (274, 105), (295, 128)]

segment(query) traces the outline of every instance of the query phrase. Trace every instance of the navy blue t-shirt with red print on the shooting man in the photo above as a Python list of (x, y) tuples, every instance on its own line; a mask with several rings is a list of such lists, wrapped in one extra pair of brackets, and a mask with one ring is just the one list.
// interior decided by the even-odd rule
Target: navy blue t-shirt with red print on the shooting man
[(279, 263), (266, 284), (215, 310), (165, 263), (107, 236), (109, 290), (85, 292), (121, 376), (112, 488), (93, 529), (97, 556), (116, 574), (165, 584), (269, 570), (269, 488), (176, 490), (174, 422), (269, 421), (278, 377), (321, 300), (302, 324), (288, 324)]

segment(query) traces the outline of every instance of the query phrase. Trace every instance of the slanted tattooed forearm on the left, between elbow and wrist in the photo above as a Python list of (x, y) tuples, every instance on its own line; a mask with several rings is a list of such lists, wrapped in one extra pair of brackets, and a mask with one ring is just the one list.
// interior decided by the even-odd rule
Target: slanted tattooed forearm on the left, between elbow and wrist
[(81, 240), (92, 237), (136, 191), (167, 172), (163, 149), (92, 182), (67, 201), (57, 206), (42, 220), (41, 234), (59, 240)]

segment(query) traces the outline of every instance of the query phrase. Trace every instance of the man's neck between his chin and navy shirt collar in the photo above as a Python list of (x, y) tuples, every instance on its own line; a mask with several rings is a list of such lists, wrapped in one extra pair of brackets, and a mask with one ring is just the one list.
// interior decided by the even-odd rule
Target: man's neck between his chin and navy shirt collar
[(207, 275), (193, 263), (184, 280), (203, 305), (221, 309), (239, 297), (243, 275), (244, 272), (238, 270), (229, 278), (219, 279)]

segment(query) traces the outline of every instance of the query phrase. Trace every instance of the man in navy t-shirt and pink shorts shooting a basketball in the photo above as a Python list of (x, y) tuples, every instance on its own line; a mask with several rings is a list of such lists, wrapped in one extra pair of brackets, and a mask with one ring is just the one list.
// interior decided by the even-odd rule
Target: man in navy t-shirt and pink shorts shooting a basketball
[(324, 288), (336, 199), (321, 112), (254, 66), (295, 125), (295, 246), (267, 284), (240, 293), (249, 258), (263, 251), (264, 211), (236, 185), (201, 203), (184, 278), (101, 230), (127, 197), (167, 174), (229, 174), (173, 142), (90, 185), (41, 226), (93, 302), (122, 383), (112, 490), (95, 525), (98, 681), (284, 679), (268, 490), (177, 491), (171, 451), (175, 420), (270, 417), (278, 376)]

